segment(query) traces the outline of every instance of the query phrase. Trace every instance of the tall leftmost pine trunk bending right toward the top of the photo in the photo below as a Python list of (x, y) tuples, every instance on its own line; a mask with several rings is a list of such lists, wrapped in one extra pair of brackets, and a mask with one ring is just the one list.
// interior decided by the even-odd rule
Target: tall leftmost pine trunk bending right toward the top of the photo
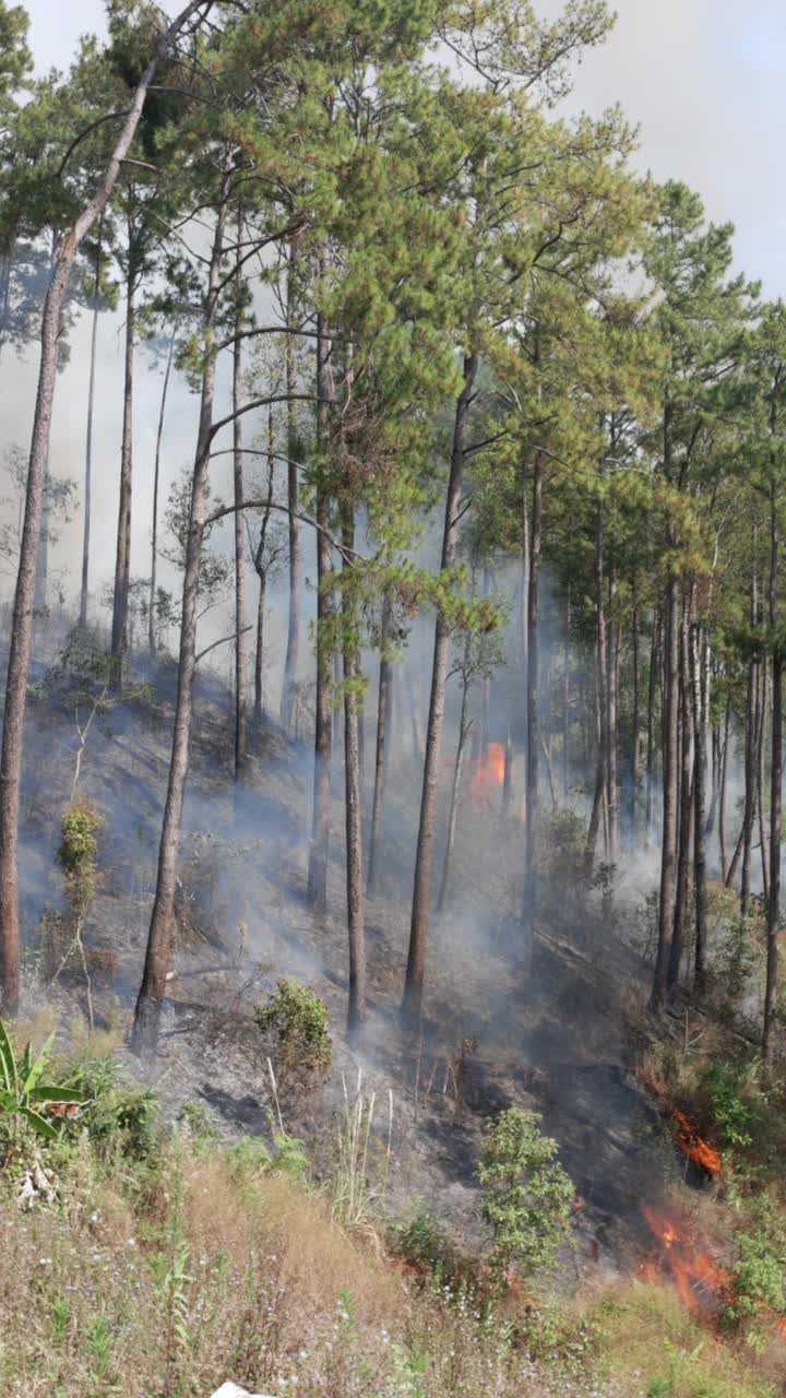
[(32, 614), (35, 604), (35, 570), (41, 537), (43, 484), (49, 460), (52, 403), (57, 375), (57, 340), (60, 315), (77, 249), (95, 221), (103, 212), (138, 126), (147, 91), (158, 60), (199, 8), (201, 0), (192, 0), (168, 29), (158, 38), (150, 63), (138, 81), (123, 130), (106, 166), (99, 190), (60, 239), (55, 273), (43, 303), (41, 327), (41, 363), (38, 393), (32, 424), (29, 467), (25, 493), (25, 519), (20, 548), (20, 566), (14, 591), (6, 707), (3, 713), (3, 755), (0, 758), (0, 998), (6, 1015), (17, 1012), (20, 1000), (20, 913), (17, 842), (20, 815), (20, 780), (22, 769), (22, 734), (27, 699), (27, 679), (32, 643)]

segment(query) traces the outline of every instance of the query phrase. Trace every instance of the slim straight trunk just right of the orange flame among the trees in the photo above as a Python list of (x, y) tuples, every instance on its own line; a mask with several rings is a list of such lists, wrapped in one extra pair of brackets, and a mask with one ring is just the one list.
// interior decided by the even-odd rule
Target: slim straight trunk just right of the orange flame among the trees
[(522, 923), (524, 928), (524, 960), (533, 951), (533, 937), (537, 918), (537, 822), (538, 822), (538, 758), (540, 758), (540, 710), (538, 710), (538, 586), (540, 547), (543, 535), (543, 457), (534, 453), (533, 461), (533, 516), (530, 533), (530, 586), (527, 607), (527, 823), (524, 830), (524, 906)]

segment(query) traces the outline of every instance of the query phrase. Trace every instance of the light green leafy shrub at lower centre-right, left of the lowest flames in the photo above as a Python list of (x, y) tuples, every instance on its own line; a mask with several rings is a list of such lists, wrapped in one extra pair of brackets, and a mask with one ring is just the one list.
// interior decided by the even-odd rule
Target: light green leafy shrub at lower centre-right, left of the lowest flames
[(571, 1229), (573, 1186), (540, 1121), (536, 1111), (502, 1111), (477, 1170), (501, 1269), (513, 1260), (524, 1274), (548, 1265)]

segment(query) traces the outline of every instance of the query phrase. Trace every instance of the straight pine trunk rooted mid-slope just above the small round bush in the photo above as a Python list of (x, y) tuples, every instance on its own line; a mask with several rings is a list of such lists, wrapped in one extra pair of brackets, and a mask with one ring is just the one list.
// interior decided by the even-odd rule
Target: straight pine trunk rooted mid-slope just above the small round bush
[[(330, 445), (330, 417), (333, 403), (333, 344), (320, 316), (317, 320), (316, 391), (317, 436), (322, 454)], [(330, 847), (330, 763), (333, 758), (333, 702), (331, 668), (333, 646), (329, 626), (333, 617), (333, 551), (327, 535), (330, 524), (330, 496), (324, 481), (316, 488), (316, 728), (313, 761), (313, 825), (309, 858), (309, 900), (317, 911), (327, 909), (327, 856)]]

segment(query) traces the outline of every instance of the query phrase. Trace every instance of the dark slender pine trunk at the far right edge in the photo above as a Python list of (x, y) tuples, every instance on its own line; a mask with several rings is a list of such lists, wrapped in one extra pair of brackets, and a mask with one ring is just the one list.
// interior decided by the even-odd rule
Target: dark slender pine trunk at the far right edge
[[(772, 403), (775, 429), (775, 397)], [(769, 628), (772, 651), (772, 758), (769, 793), (769, 900), (766, 906), (766, 983), (764, 993), (762, 1057), (772, 1062), (772, 1025), (778, 1004), (778, 932), (780, 930), (780, 795), (783, 790), (783, 653), (776, 640), (778, 628), (778, 495), (771, 485), (769, 507)]]

